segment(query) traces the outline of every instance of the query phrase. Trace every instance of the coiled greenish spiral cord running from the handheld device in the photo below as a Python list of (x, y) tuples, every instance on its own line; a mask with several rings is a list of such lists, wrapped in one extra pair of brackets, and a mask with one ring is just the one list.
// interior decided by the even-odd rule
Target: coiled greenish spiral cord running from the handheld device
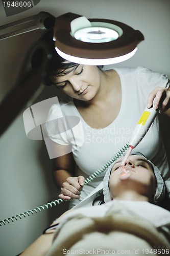
[[(96, 177), (98, 177), (100, 174), (102, 174), (114, 161), (116, 161), (122, 154), (124, 154), (124, 152), (129, 148), (128, 144), (125, 144), (116, 154), (114, 157), (112, 157), (109, 161), (107, 161), (101, 168), (99, 168), (98, 170), (96, 170), (91, 176), (89, 176), (86, 180), (85, 180), (85, 185), (89, 182), (91, 182), (92, 180), (94, 180)], [(11, 218), (5, 219), (0, 221), (0, 226), (2, 226), (2, 224), (6, 225), (7, 223), (14, 222), (15, 220), (17, 221), (18, 219), (22, 219), (22, 217), (26, 218), (27, 216), (30, 216), (31, 214), (37, 214), (38, 212), (40, 212), (41, 210), (45, 210), (48, 209), (49, 207), (53, 207), (56, 206), (57, 204), (62, 203), (63, 200), (62, 199), (58, 199), (55, 201), (52, 201), (51, 203), (47, 203), (47, 204), (43, 204), (42, 206), (36, 207), (35, 209), (29, 210), (29, 211), (25, 211), (22, 214), (18, 214), (16, 216), (13, 216)]]

